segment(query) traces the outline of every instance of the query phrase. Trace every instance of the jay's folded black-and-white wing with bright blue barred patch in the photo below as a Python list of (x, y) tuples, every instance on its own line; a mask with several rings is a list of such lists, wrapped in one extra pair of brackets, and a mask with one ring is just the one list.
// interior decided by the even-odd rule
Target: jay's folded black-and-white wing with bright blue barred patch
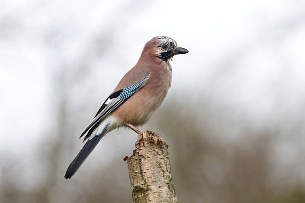
[(124, 102), (126, 102), (130, 97), (132, 97), (138, 90), (140, 90), (148, 80), (149, 76), (145, 76), (139, 82), (135, 82), (134, 84), (114, 92), (111, 94), (107, 100), (102, 104), (100, 109), (98, 110), (97, 114), (90, 122), (88, 127), (84, 130), (80, 137), (87, 133), (85, 136), (84, 141), (90, 136), (92, 131), (94, 130), (94, 126), (96, 126), (100, 121), (102, 121), (110, 112), (118, 108)]

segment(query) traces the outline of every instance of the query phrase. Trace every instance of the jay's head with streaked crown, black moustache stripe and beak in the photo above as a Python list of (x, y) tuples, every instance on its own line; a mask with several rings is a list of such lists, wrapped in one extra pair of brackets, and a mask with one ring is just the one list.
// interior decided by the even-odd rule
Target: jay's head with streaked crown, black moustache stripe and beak
[(169, 63), (169, 60), (176, 54), (186, 54), (187, 49), (179, 47), (175, 40), (165, 37), (157, 36), (153, 37), (144, 47), (143, 53), (147, 53), (151, 56)]

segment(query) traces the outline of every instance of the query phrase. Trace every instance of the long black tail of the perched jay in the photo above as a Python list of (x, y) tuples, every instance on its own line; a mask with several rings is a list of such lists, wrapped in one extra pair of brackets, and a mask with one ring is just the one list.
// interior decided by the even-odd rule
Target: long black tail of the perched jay
[(106, 134), (108, 127), (109, 125), (106, 125), (100, 134), (95, 135), (92, 139), (89, 138), (89, 140), (69, 165), (65, 175), (66, 179), (70, 179), (75, 174), (75, 172), (89, 156), (95, 146), (99, 143), (101, 138)]

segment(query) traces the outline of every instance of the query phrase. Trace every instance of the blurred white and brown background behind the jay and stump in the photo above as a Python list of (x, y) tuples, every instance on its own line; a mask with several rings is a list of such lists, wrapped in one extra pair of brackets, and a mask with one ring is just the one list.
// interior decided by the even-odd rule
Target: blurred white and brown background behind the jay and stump
[(132, 203), (131, 130), (64, 174), (157, 35), (189, 50), (142, 128), (168, 143), (179, 201), (305, 202), (304, 0), (0, 0), (1, 203)]

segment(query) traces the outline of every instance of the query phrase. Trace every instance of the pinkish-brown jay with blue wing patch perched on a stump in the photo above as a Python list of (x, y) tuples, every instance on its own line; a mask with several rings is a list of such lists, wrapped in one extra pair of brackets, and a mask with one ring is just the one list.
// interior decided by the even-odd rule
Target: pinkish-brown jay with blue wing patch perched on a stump
[(148, 122), (170, 88), (169, 62), (174, 55), (186, 53), (187, 49), (166, 36), (153, 37), (145, 44), (137, 64), (125, 74), (80, 135), (86, 143), (69, 165), (66, 179), (75, 174), (101, 138), (116, 128), (125, 126), (138, 133), (137, 147), (143, 138), (143, 131), (137, 127)]

